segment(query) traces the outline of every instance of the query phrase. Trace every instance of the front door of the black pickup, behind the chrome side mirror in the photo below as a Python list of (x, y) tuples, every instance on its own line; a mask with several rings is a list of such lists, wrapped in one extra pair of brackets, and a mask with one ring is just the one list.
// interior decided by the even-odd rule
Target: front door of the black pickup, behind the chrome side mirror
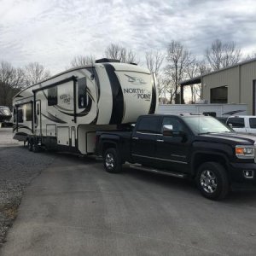
[(156, 157), (159, 166), (174, 172), (189, 172), (189, 131), (181, 119), (177, 117), (164, 117), (161, 123), (161, 131), (164, 125), (172, 125), (173, 131), (182, 131), (183, 136), (164, 136), (161, 132), (156, 140)]

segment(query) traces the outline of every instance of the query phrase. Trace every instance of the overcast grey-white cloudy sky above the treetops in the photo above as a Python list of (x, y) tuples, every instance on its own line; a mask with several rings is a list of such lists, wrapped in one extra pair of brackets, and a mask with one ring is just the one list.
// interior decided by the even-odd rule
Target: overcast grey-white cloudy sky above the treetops
[(255, 0), (0, 0), (0, 61), (52, 74), (110, 43), (139, 53), (181, 41), (203, 55), (216, 38), (256, 51)]

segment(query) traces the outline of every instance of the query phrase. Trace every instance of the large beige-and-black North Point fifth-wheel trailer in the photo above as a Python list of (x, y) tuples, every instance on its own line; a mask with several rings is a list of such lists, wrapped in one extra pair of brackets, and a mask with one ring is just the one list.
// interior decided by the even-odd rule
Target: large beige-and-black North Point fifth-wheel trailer
[(134, 123), (158, 106), (148, 69), (101, 59), (20, 91), (13, 100), (15, 139), (38, 147), (93, 154), (96, 131)]

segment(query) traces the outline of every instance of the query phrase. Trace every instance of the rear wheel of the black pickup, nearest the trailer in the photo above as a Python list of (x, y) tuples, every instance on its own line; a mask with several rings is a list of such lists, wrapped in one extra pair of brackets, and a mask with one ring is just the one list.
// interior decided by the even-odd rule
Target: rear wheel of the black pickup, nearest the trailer
[(122, 170), (119, 154), (115, 148), (108, 148), (104, 153), (104, 166), (107, 172), (118, 173)]

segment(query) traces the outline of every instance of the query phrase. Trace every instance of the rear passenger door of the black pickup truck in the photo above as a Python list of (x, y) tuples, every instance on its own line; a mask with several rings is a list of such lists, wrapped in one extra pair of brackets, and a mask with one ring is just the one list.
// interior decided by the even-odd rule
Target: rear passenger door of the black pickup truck
[(160, 135), (160, 117), (145, 116), (138, 120), (132, 135), (131, 156), (140, 164), (154, 166), (156, 139)]

